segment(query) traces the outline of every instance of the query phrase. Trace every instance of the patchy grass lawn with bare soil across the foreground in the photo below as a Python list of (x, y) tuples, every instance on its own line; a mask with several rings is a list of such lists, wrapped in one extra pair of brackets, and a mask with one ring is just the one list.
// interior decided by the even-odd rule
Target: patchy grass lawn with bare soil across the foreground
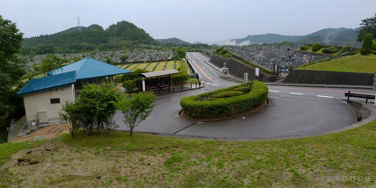
[[(375, 135), (376, 120), (339, 133), (273, 141), (124, 132), (79, 133), (73, 139), (65, 134), (39, 142), (0, 144), (0, 159), (6, 161), (0, 168), (0, 187), (374, 186)], [(39, 164), (20, 160), (17, 165), (17, 159)], [(327, 181), (327, 176), (354, 176), (355, 181)]]

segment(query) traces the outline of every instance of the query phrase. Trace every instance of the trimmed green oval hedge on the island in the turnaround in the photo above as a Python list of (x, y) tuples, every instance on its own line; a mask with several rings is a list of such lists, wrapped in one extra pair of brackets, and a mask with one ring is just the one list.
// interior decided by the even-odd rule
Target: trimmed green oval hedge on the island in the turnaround
[[(226, 99), (207, 100), (212, 95), (222, 91), (231, 91), (235, 88), (250, 87), (252, 90), (241, 96)], [(252, 81), (224, 89), (206, 92), (196, 96), (183, 97), (180, 106), (192, 118), (219, 118), (231, 117), (251, 111), (265, 102), (268, 97), (268, 87), (259, 81)]]

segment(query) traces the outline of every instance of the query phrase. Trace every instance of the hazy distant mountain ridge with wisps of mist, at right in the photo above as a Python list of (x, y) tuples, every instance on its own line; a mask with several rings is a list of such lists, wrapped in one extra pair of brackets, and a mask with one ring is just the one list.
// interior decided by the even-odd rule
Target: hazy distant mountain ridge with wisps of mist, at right
[[(289, 35), (278, 35), (273, 33), (268, 33), (264, 35), (248, 35), (245, 38), (241, 39), (232, 39), (230, 41), (234, 41), (237, 44), (273, 44), (274, 42), (282, 42), (282, 41), (289, 41), (294, 42), (296, 44), (304, 44), (310, 41), (314, 42), (328, 42), (328, 41), (356, 41), (356, 36), (358, 33), (356, 33), (356, 29), (347, 29), (344, 27), (340, 28), (326, 28), (321, 29), (317, 32), (301, 36), (301, 35), (295, 35), (295, 36), (289, 36)], [(218, 41), (218, 42), (224, 42), (224, 41)]]

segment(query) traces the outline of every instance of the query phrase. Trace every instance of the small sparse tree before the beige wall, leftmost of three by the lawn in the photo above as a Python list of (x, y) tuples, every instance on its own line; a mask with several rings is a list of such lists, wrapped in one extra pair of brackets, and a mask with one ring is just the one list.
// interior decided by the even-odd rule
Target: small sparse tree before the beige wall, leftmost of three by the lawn
[[(64, 113), (65, 112), (65, 113)], [(72, 138), (77, 135), (77, 131), (82, 127), (82, 114), (80, 103), (65, 102), (61, 111), (59, 111), (60, 122), (67, 129)]]

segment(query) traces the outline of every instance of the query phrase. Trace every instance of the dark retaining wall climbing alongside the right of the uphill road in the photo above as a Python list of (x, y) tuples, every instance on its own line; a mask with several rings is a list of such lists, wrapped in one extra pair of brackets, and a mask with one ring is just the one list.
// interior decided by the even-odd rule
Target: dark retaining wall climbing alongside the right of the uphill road
[[(237, 77), (244, 78), (244, 73), (248, 73), (248, 80), (256, 80), (257, 76), (255, 75), (255, 68), (250, 67), (244, 63), (238, 62), (235, 59), (226, 59), (220, 56), (212, 55), (210, 62), (218, 67), (223, 67), (223, 63), (226, 62), (226, 68), (229, 68), (230, 74), (233, 74)], [(261, 82), (275, 82), (277, 76), (269, 76), (265, 73), (260, 73)]]

